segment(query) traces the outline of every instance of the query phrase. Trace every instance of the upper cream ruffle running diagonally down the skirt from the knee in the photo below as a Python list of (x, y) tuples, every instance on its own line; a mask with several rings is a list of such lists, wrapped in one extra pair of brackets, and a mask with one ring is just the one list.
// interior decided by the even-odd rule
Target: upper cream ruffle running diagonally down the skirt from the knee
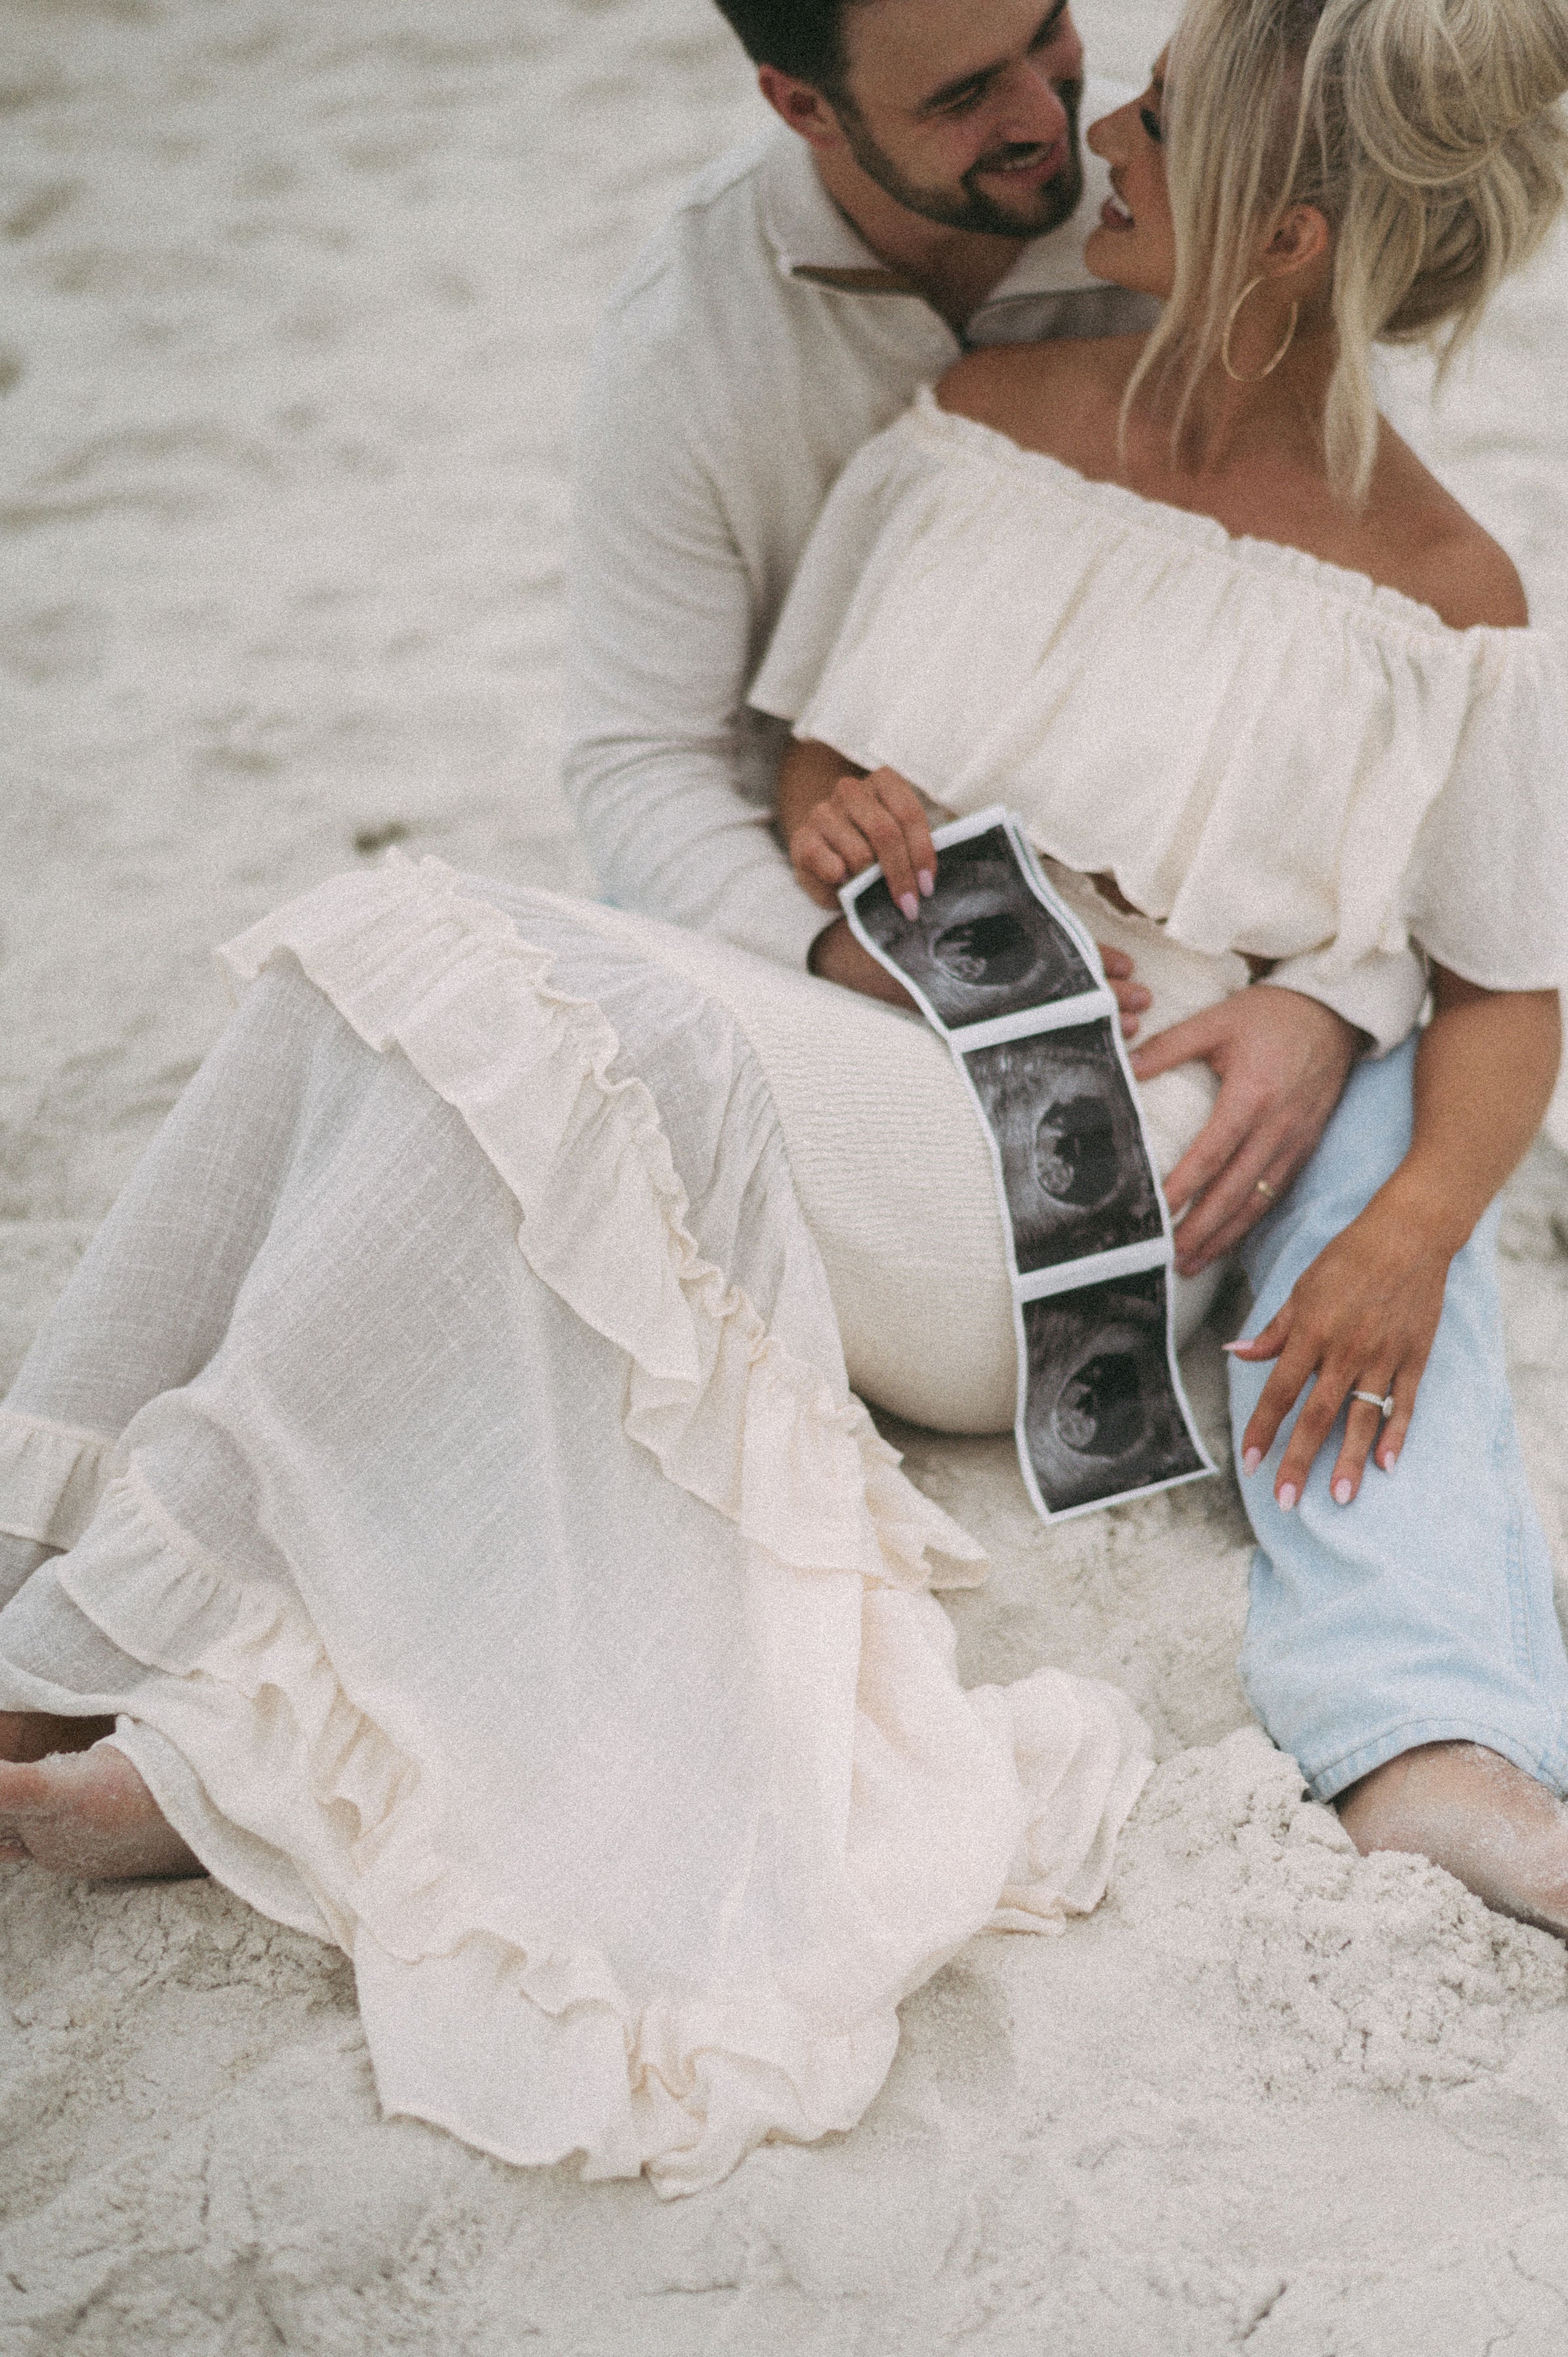
[(905, 1480), (842, 1367), (785, 1348), (698, 1252), (658, 1105), (613, 1077), (604, 1011), (554, 990), (547, 952), (455, 886), (441, 860), (391, 853), (219, 959), (248, 983), (292, 955), (368, 1047), (398, 1047), (455, 1108), (516, 1200), (533, 1273), (627, 1353), (625, 1431), (667, 1480), (792, 1570), (974, 1586), (983, 1549)]

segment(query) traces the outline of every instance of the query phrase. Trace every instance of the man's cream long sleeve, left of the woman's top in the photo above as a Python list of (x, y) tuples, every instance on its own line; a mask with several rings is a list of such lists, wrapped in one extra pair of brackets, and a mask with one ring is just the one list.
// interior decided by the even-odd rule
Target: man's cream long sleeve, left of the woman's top
[(830, 919), (757, 794), (778, 731), (745, 712), (752, 582), (686, 391), (611, 316), (578, 420), (566, 797), (618, 907), (804, 966)]

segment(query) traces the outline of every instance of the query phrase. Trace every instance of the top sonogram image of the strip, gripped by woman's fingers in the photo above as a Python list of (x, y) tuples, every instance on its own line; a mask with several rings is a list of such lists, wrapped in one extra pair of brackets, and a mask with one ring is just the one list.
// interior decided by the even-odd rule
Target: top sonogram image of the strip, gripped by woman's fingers
[(858, 893), (856, 917), (948, 1030), (1099, 990), (1078, 943), (1033, 893), (1004, 827), (938, 849), (936, 891), (915, 919), (894, 905), (882, 877)]

